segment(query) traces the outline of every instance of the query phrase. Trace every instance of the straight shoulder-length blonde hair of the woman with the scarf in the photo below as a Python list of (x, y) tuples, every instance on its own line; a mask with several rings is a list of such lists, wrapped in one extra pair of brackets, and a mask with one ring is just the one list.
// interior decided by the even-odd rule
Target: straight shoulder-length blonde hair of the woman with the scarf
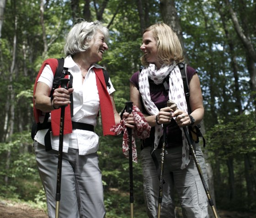
[[(152, 31), (158, 50), (157, 59), (160, 63), (170, 65), (173, 61), (176, 61), (176, 63), (183, 61), (181, 43), (170, 26), (158, 22), (145, 29), (143, 34), (147, 31)], [(143, 66), (149, 65), (145, 55), (143, 55), (140, 60)]]

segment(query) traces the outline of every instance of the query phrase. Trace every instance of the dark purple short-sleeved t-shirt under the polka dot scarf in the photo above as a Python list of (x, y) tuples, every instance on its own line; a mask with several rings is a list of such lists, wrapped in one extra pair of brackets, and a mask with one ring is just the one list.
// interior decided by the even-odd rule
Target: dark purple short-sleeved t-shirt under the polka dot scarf
[[(188, 83), (190, 82), (192, 76), (197, 73), (195, 69), (193, 69), (191, 66), (187, 66), (187, 79)], [(130, 82), (133, 83), (134, 86), (137, 87), (139, 90), (139, 71), (135, 72), (133, 76), (130, 79)], [(169, 83), (169, 81), (167, 80)], [(160, 110), (163, 107), (166, 107), (167, 101), (169, 100), (169, 90), (165, 90), (164, 85), (156, 85), (154, 81), (149, 79), (149, 91), (150, 91), (150, 97), (151, 100), (154, 102), (155, 106)], [(143, 105), (142, 99), (141, 104), (143, 106), (143, 113), (149, 114)], [(152, 146), (154, 145), (154, 137), (155, 137), (155, 127), (151, 128), (150, 136), (149, 138), (143, 140), (143, 147)], [(176, 124), (174, 119), (171, 119), (171, 123), (166, 128), (166, 148), (170, 147), (176, 147), (176, 146), (182, 146), (182, 137), (181, 137), (181, 129)], [(162, 146), (162, 138), (159, 142), (159, 148)]]

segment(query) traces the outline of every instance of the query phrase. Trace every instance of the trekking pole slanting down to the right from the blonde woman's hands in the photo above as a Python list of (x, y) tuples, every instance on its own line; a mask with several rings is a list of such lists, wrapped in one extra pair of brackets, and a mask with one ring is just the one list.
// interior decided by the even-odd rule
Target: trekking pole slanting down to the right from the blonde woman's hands
[[(170, 101), (170, 102), (174, 105), (172, 109), (173, 109), (174, 111), (176, 111), (176, 109), (177, 109), (176, 104), (175, 104), (173, 101)], [(175, 108), (175, 109), (174, 109), (174, 108)], [(202, 172), (202, 169), (201, 169), (201, 167), (200, 167), (200, 165), (199, 165), (199, 162), (198, 162), (198, 160), (197, 160), (197, 156), (196, 156), (195, 150), (194, 150), (194, 148), (193, 148), (192, 141), (191, 141), (191, 138), (190, 138), (190, 136), (189, 136), (187, 127), (182, 127), (182, 129), (183, 129), (183, 131), (184, 131), (184, 133), (185, 133), (185, 137), (186, 137), (186, 139), (187, 139), (187, 143), (189, 144), (189, 149), (190, 149), (190, 151), (191, 151), (192, 157), (193, 157), (194, 162), (195, 162), (195, 164), (196, 164), (197, 171), (198, 171), (198, 173), (199, 173), (199, 176), (200, 176), (200, 178), (201, 178), (201, 181), (202, 181), (202, 183), (203, 183), (203, 188), (204, 188), (205, 193), (206, 193), (206, 195), (207, 195), (209, 205), (211, 206), (211, 208), (212, 208), (212, 210), (213, 210), (214, 218), (218, 218), (217, 211), (216, 211), (216, 209), (215, 209), (215, 207), (214, 207), (214, 203), (213, 203), (213, 200), (212, 200), (211, 195), (210, 195), (210, 193), (209, 193), (209, 189), (208, 189), (207, 184), (206, 184), (206, 182), (205, 182), (205, 180), (204, 180), (203, 172)]]

